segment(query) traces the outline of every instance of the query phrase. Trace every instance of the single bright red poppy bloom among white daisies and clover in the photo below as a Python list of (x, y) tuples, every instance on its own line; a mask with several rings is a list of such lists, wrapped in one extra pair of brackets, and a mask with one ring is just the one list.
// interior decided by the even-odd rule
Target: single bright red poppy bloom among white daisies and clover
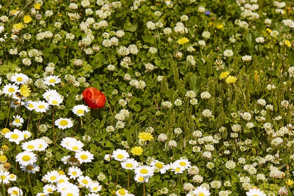
[(94, 88), (94, 87), (86, 88), (83, 91), (82, 96), (84, 100), (86, 101), (87, 105), (92, 109), (105, 107), (104, 104), (106, 102), (105, 101), (106, 97), (97, 88)]

